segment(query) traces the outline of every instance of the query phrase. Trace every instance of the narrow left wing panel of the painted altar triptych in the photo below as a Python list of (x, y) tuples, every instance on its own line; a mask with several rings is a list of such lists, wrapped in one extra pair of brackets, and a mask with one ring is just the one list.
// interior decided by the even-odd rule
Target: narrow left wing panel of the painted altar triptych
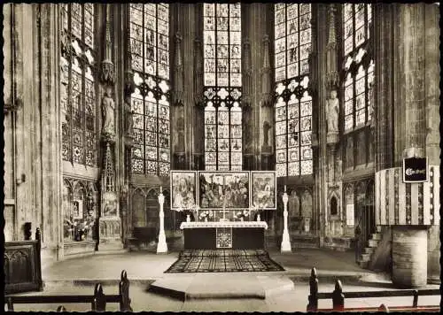
[(171, 171), (171, 209), (190, 209), (197, 200), (197, 172)]

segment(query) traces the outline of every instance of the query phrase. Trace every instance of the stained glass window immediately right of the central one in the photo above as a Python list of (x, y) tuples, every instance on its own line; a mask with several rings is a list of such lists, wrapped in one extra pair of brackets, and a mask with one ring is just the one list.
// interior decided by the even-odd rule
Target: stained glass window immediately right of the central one
[(311, 174), (311, 5), (275, 4), (275, 15), (276, 173)]

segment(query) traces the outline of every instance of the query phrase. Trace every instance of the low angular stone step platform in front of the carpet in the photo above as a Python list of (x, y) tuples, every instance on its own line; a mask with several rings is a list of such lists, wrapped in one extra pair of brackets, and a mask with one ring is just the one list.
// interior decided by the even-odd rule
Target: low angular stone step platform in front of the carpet
[(191, 299), (256, 298), (289, 292), (294, 283), (283, 274), (171, 274), (154, 281), (149, 291), (182, 301)]

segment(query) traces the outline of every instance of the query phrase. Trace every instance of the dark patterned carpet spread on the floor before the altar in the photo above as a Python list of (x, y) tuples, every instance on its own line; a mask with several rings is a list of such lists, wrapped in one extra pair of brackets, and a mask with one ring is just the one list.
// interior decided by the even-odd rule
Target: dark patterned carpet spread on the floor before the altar
[(284, 271), (266, 250), (183, 250), (165, 273)]

